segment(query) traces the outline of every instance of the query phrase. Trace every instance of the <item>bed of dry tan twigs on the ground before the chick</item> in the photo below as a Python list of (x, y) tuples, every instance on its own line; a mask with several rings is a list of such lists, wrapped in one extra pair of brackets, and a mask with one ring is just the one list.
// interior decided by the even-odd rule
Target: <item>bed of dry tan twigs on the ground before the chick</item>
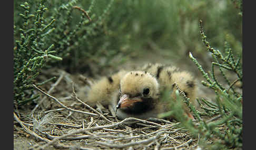
[(22, 133), (33, 140), (27, 149), (191, 149), (198, 146), (198, 138), (179, 122), (133, 117), (118, 120), (107, 110), (93, 109), (76, 96), (75, 89), (81, 89), (84, 83), (75, 81), (76, 75), (63, 70), (57, 72), (58, 79), (47, 84), (48, 87), (34, 85), (42, 98), (31, 111), (14, 112), (14, 137)]

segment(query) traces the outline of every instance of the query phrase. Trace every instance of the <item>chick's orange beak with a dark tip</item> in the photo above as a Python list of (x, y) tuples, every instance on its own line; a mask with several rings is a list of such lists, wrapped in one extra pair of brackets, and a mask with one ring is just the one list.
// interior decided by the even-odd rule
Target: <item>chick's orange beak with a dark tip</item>
[(129, 95), (124, 94), (117, 103), (116, 109), (129, 107), (136, 102), (142, 102), (142, 99), (138, 97), (129, 98)]

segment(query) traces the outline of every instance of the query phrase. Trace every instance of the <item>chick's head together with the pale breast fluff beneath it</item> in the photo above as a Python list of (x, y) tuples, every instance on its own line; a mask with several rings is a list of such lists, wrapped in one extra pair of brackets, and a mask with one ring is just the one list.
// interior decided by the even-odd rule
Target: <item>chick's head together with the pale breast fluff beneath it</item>
[(159, 100), (159, 83), (146, 71), (130, 71), (120, 81), (120, 91), (113, 98), (116, 115), (124, 119), (156, 117), (156, 104)]

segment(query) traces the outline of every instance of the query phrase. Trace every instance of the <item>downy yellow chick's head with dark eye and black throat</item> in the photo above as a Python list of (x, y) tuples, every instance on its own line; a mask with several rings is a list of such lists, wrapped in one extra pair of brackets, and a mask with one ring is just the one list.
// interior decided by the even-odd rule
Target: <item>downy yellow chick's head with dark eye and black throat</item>
[(131, 71), (120, 81), (120, 99), (116, 109), (141, 113), (154, 106), (159, 95), (159, 83), (146, 71)]

